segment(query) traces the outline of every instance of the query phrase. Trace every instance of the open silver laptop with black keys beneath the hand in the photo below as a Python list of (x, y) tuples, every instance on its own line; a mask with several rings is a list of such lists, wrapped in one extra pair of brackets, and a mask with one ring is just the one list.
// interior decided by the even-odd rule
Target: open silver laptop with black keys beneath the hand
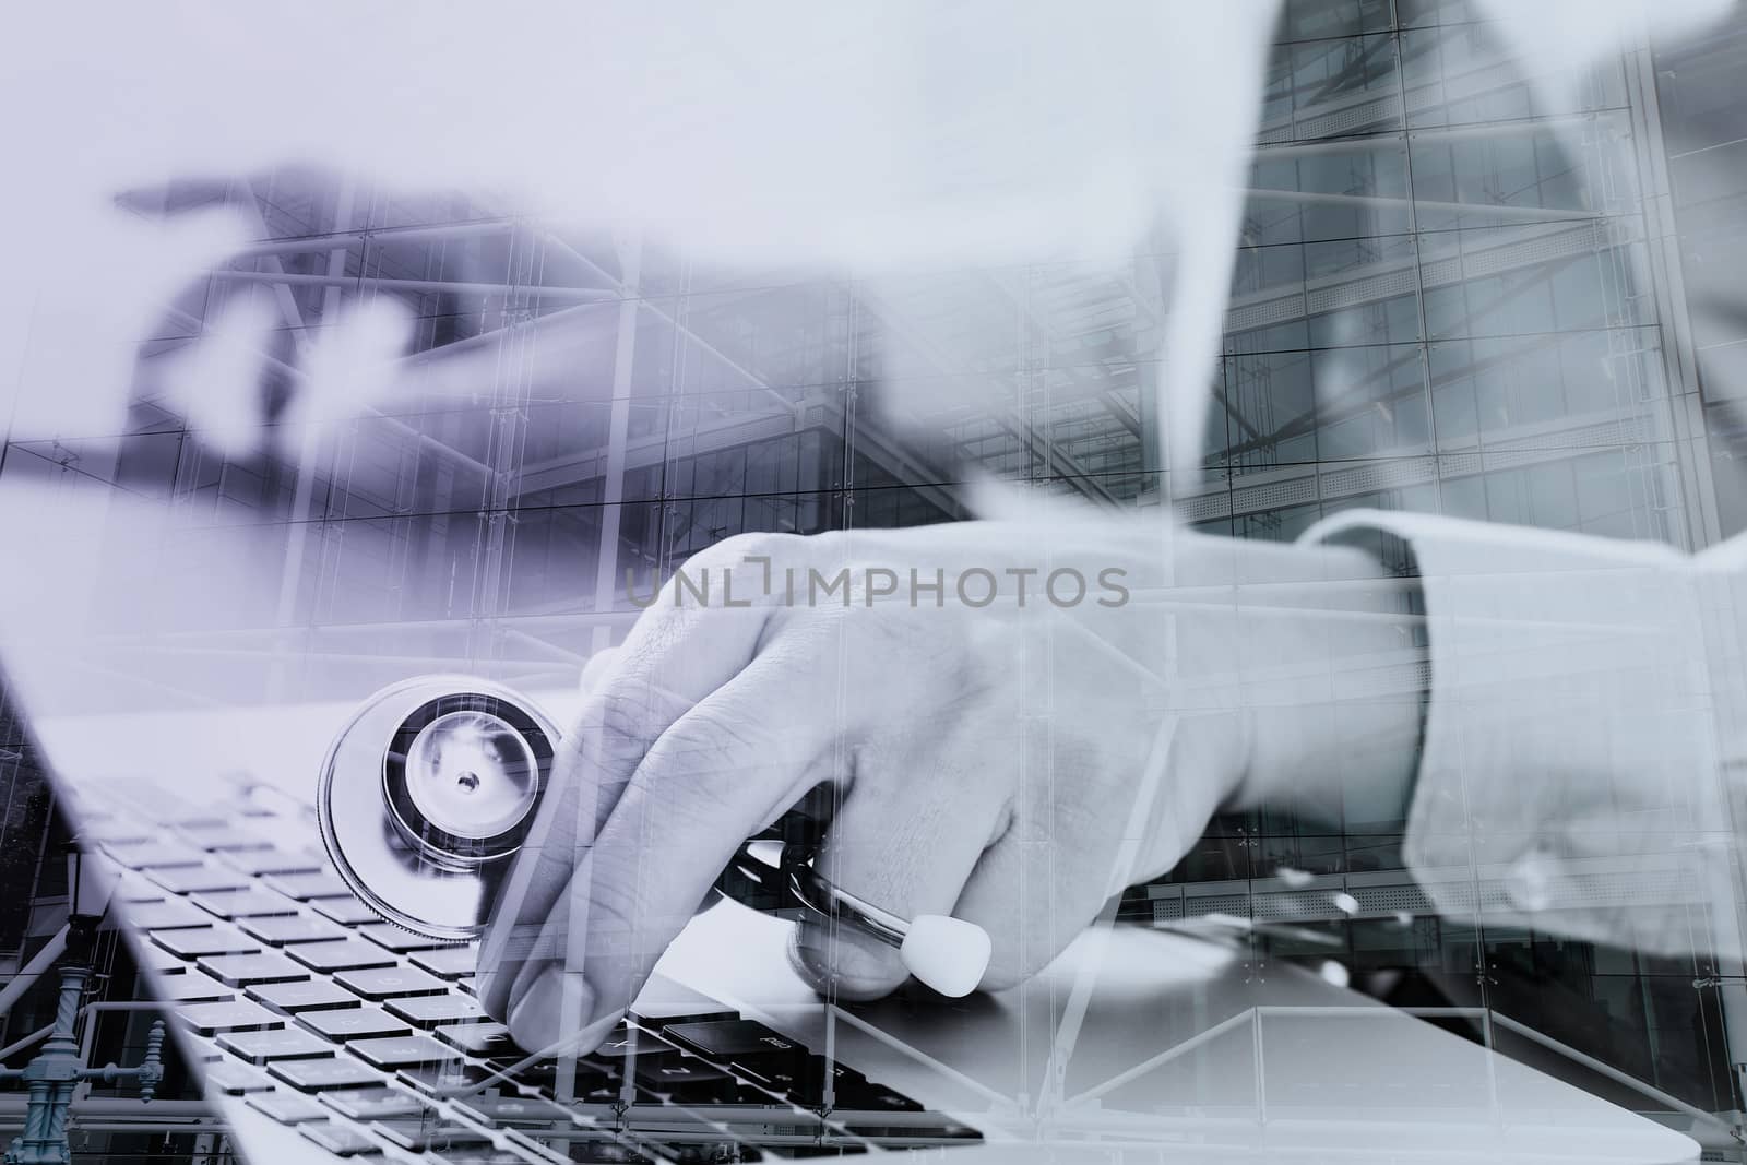
[(603, 1046), (529, 1064), (473, 997), (473, 945), (383, 922), (330, 868), (311, 800), (349, 711), (31, 723), (79, 835), (121, 870), (115, 926), (257, 1163), (1696, 1155), (1307, 969), (1136, 926), (1094, 927), (1006, 992), (842, 1008), (790, 968), (786, 922), (723, 903)]

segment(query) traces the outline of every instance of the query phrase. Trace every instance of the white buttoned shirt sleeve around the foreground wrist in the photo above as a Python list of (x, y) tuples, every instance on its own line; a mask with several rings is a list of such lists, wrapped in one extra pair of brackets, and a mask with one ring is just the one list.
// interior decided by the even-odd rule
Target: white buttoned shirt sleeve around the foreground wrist
[(1436, 910), (1661, 954), (1738, 948), (1747, 545), (1691, 559), (1380, 512), (1305, 536), (1364, 527), (1410, 543), (1424, 589), (1431, 700), (1403, 852)]

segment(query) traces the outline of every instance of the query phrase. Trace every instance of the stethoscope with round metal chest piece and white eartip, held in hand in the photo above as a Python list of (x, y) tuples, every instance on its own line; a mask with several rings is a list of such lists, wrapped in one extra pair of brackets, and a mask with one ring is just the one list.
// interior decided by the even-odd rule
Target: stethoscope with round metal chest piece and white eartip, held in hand
[[(390, 922), (432, 938), (479, 936), (533, 828), (557, 746), (545, 713), (486, 679), (423, 676), (383, 688), (321, 765), (316, 817), (335, 870)], [(816, 833), (805, 814), (786, 814), (741, 844), (716, 894), (870, 934), (943, 996), (977, 989), (991, 954), (980, 926), (903, 919), (844, 891), (814, 865)]]

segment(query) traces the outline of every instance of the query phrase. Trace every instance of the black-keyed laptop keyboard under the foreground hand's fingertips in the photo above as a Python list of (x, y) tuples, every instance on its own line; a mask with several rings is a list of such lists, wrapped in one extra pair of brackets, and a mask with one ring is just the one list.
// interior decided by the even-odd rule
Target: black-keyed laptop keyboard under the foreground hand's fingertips
[(79, 817), (122, 866), (122, 917), (208, 1092), (328, 1153), (756, 1162), (982, 1139), (732, 1011), (632, 1015), (590, 1055), (522, 1064), (473, 997), (475, 945), (379, 920), (283, 793), (190, 805), (126, 781)]

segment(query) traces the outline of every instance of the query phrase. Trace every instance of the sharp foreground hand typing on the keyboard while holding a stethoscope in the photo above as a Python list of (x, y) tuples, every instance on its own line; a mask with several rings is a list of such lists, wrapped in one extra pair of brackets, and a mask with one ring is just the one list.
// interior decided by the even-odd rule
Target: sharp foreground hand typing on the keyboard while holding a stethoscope
[[(1373, 610), (1378, 571), (1088, 519), (749, 534), (681, 573), (594, 665), (480, 950), (480, 999), (531, 1050), (592, 1046), (737, 845), (821, 782), (826, 879), (982, 926), (984, 985), (1024, 980), (1221, 805), (1340, 755), (1326, 608)], [(839, 997), (905, 980), (884, 943), (816, 922), (791, 954)]]

